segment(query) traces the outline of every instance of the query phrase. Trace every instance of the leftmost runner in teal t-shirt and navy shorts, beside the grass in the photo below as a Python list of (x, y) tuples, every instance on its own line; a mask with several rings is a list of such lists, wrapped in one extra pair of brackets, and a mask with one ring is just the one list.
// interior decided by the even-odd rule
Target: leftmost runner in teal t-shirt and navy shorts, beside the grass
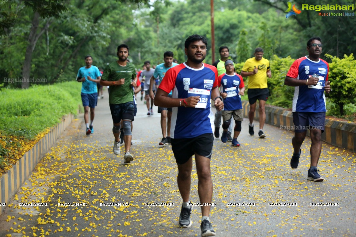
[[(100, 82), (100, 71), (93, 64), (93, 58), (90, 55), (85, 56), (85, 67), (79, 68), (77, 74), (77, 81), (82, 82), (82, 102), (84, 107), (84, 121), (87, 135), (94, 133), (93, 120), (94, 109), (98, 102), (98, 88), (97, 82)], [(89, 107), (90, 107), (90, 124), (89, 124)]]

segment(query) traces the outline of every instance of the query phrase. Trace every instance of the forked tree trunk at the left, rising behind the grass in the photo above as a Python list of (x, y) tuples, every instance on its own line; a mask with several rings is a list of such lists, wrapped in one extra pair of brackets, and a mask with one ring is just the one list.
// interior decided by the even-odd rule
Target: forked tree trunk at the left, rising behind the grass
[(36, 43), (40, 36), (45, 32), (49, 25), (50, 25), (50, 20), (47, 21), (46, 26), (42, 28), (41, 32), (36, 34), (38, 25), (40, 24), (40, 14), (38, 12), (35, 12), (35, 15), (33, 16), (32, 19), (32, 26), (30, 29), (30, 34), (28, 35), (28, 45), (26, 48), (26, 53), (25, 53), (25, 61), (23, 62), (23, 68), (22, 68), (22, 85), (21, 87), (23, 89), (26, 89), (30, 86), (30, 72), (31, 72), (31, 60), (32, 60), (32, 52), (36, 47)]

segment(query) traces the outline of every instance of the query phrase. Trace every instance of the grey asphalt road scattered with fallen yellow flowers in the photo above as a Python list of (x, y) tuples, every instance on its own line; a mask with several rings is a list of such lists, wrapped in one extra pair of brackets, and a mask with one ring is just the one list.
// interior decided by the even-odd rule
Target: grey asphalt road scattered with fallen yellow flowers
[[(95, 109), (94, 134), (85, 135), (80, 114), (7, 204), (0, 216), (0, 236), (200, 236), (199, 206), (193, 208), (190, 228), (178, 226), (182, 199), (176, 162), (169, 145), (158, 146), (162, 135), (157, 107), (147, 116), (146, 105), (138, 100), (134, 160), (124, 165), (124, 152), (112, 152), (107, 91), (104, 95)], [(241, 147), (215, 139), (211, 171), (216, 206), (210, 220), (217, 236), (356, 236), (355, 153), (323, 144), (318, 168), (325, 181), (308, 181), (310, 139), (302, 146), (298, 169), (292, 170), (293, 133), (270, 125), (264, 131), (265, 139), (250, 136), (245, 119)], [(192, 202), (199, 202), (197, 185), (193, 167)], [(30, 202), (48, 206), (20, 206)], [(227, 206), (231, 203), (240, 205)]]

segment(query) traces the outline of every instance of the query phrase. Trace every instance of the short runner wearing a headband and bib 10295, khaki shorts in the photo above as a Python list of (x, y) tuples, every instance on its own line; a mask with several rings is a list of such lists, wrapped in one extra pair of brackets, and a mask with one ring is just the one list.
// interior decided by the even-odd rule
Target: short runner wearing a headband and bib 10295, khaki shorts
[(244, 95), (245, 84), (242, 76), (234, 72), (234, 62), (230, 59), (225, 61), (226, 72), (218, 77), (218, 86), (220, 87), (220, 95), (224, 99), (223, 115), (223, 135), (221, 141), (226, 142), (228, 131), (231, 123), (231, 117), (234, 117), (235, 128), (232, 146), (240, 146), (237, 137), (241, 132), (241, 121), (244, 120), (242, 113), (241, 95)]

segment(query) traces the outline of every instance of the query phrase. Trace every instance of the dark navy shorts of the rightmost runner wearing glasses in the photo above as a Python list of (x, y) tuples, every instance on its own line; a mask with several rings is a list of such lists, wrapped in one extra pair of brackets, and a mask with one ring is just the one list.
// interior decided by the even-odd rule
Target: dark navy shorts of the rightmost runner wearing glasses
[(325, 112), (293, 112), (294, 132), (303, 133), (309, 129), (325, 129)]

